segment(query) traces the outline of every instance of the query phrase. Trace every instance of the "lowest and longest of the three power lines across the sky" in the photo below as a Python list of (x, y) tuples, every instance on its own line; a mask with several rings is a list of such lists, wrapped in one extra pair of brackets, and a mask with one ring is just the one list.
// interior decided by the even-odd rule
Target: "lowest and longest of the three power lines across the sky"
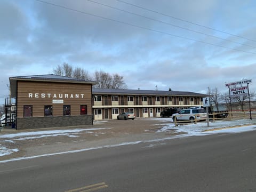
[(142, 26), (134, 25), (134, 24), (127, 23), (127, 22), (124, 22), (124, 21), (118, 21), (118, 20), (115, 20), (115, 19), (110, 19), (110, 18), (102, 17), (102, 16), (95, 15), (95, 14), (92, 14), (92, 13), (87, 13), (87, 12), (84, 12), (84, 11), (75, 10), (75, 9), (72, 9), (72, 8), (69, 8), (69, 7), (66, 7), (66, 6), (45, 2), (45, 1), (42, 1), (42, 0), (35, 0), (35, 1), (38, 1), (38, 2), (41, 2), (41, 3), (45, 3), (45, 4), (49, 4), (49, 5), (52, 5), (52, 6), (57, 6), (57, 7), (60, 7), (62, 9), (67, 9), (67, 10), (70, 10), (70, 11), (75, 11), (75, 12), (78, 12), (78, 13), (91, 15), (93, 17), (97, 17), (97, 18), (101, 18), (101, 19), (105, 19), (105, 20), (109, 20), (109, 21), (114, 21), (114, 22), (122, 23), (124, 25), (128, 25), (128, 26), (132, 26), (132, 27), (137, 27), (137, 28), (141, 28), (141, 29), (146, 29), (146, 30), (154, 31), (156, 33), (160, 33), (160, 34), (164, 34), (164, 35), (170, 35), (170, 36), (173, 36), (173, 37), (179, 37), (179, 38), (187, 39), (187, 40), (194, 41), (194, 42), (199, 42), (199, 43), (204, 43), (204, 44), (208, 44), (208, 45), (222, 47), (222, 48), (229, 49), (229, 50), (234, 50), (234, 51), (239, 51), (239, 52), (244, 52), (244, 53), (250, 53), (250, 54), (256, 54), (255, 52), (249, 52), (249, 51), (233, 49), (233, 48), (222, 46), (222, 45), (217, 45), (217, 44), (213, 44), (213, 43), (207, 43), (207, 42), (204, 42), (204, 41), (199, 41), (197, 39), (192, 39), (192, 38), (188, 38), (188, 37), (182, 37), (182, 36), (179, 36), (179, 35), (174, 35), (174, 34), (166, 33), (164, 31), (159, 31), (159, 30), (150, 29), (150, 28), (147, 28), (147, 27), (142, 27)]

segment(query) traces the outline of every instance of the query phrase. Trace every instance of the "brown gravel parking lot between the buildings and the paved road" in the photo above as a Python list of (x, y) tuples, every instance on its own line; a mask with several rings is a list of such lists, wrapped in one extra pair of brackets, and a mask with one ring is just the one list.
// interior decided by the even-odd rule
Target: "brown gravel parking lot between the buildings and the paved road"
[[(19, 149), (10, 155), (0, 157), (0, 161), (18, 158), (30, 157), (43, 154), (61, 153), (63, 151), (79, 150), (85, 148), (95, 148), (107, 145), (117, 145), (118, 143), (153, 140), (174, 135), (174, 131), (157, 132), (168, 122), (157, 119), (134, 119), (134, 120), (109, 120), (94, 121), (93, 125), (76, 127), (58, 127), (52, 129), (34, 129), (34, 130), (8, 130), (4, 129), (0, 134), (24, 133), (35, 131), (52, 130), (75, 130), (84, 129), (75, 135), (51, 135), (49, 137), (31, 137), (30, 139), (13, 139), (14, 142), (4, 142), (6, 139), (0, 139), (1, 146), (8, 149)], [(88, 130), (95, 129), (95, 130)]]

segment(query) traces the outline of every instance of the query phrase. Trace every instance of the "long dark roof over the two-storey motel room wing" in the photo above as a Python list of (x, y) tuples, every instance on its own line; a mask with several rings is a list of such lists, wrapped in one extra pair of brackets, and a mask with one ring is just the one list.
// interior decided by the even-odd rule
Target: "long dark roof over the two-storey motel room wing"
[(125, 95), (173, 95), (173, 96), (195, 96), (207, 97), (207, 94), (189, 91), (155, 91), (155, 90), (125, 90), (125, 89), (92, 89), (93, 94), (125, 94)]

